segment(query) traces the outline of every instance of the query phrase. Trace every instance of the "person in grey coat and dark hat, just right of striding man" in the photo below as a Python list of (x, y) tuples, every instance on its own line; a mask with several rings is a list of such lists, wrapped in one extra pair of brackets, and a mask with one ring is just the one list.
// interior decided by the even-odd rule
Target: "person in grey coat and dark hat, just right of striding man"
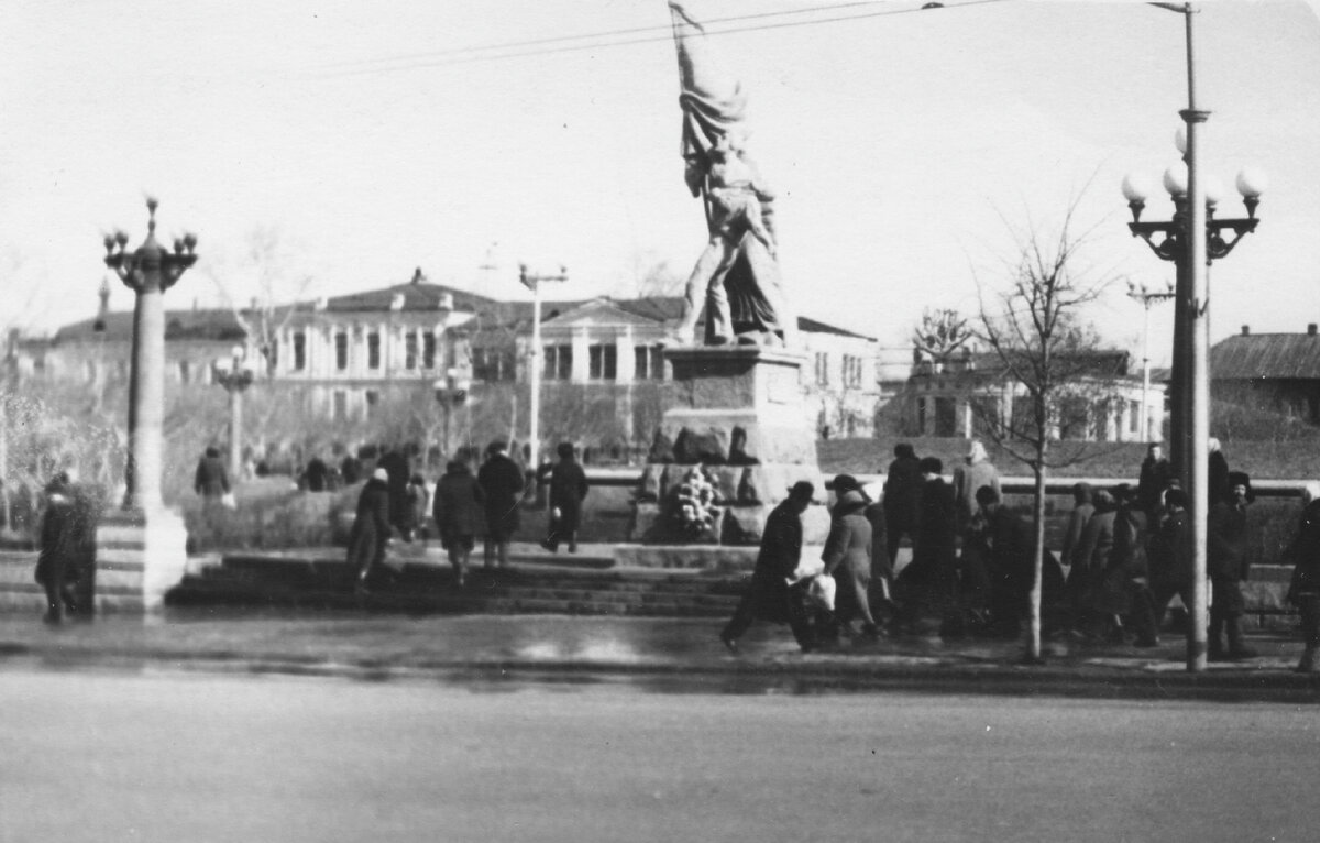
[(878, 637), (875, 618), (867, 599), (871, 584), (871, 522), (866, 519), (866, 506), (871, 498), (851, 474), (834, 478), (834, 511), (830, 514), (829, 538), (825, 540), (825, 573), (834, 577), (834, 622), (830, 632), (840, 628), (850, 637), (851, 621), (862, 622), (862, 636)]

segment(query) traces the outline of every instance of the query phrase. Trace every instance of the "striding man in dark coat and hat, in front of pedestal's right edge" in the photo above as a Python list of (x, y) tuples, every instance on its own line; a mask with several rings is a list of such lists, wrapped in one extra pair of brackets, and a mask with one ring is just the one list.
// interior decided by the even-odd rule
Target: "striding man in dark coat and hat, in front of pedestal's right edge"
[(810, 580), (789, 584), (803, 556), (803, 513), (810, 505), (813, 494), (816, 488), (812, 484), (799, 481), (789, 489), (788, 498), (771, 510), (766, 519), (751, 585), (719, 633), (719, 640), (730, 650), (738, 650), (738, 638), (755, 620), (788, 624), (804, 653), (816, 646), (807, 608), (807, 587)]

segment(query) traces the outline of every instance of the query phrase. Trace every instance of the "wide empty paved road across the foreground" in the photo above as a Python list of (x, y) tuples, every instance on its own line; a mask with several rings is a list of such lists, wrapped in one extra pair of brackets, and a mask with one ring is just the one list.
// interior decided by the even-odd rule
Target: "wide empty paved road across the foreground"
[(0, 670), (0, 842), (1312, 840), (1313, 707)]

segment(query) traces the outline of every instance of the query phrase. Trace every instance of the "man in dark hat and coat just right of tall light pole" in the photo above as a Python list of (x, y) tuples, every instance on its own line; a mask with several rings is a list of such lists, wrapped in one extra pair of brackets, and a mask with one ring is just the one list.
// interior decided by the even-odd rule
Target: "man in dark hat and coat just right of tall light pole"
[[(1242, 643), (1242, 613), (1245, 603), (1238, 583), (1249, 573), (1247, 552), (1250, 536), (1246, 507), (1255, 499), (1251, 478), (1245, 472), (1229, 472), (1228, 497), (1210, 507), (1206, 525), (1208, 562), (1210, 575), (1210, 661), (1238, 661), (1254, 658), (1255, 651)], [(1228, 647), (1224, 636), (1228, 634)]]

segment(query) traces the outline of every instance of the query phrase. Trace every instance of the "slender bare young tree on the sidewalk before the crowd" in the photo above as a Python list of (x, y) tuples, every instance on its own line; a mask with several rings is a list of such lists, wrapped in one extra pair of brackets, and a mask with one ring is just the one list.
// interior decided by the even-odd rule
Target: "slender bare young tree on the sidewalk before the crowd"
[[(1081, 260), (1094, 227), (1077, 234), (1073, 201), (1055, 235), (1030, 226), (1014, 233), (1015, 254), (1005, 262), (1007, 284), (987, 292), (977, 277), (979, 317), (975, 336), (994, 353), (1001, 383), (1024, 400), (1005, 408), (998, 402), (973, 402), (981, 428), (1014, 458), (1031, 468), (1035, 477), (1035, 560), (1031, 585), (1031, 632), (1026, 659), (1039, 663), (1041, 571), (1045, 552), (1045, 478), (1063, 468), (1097, 455), (1097, 448), (1078, 444), (1055, 448), (1059, 427), (1078, 403), (1105, 410), (1115, 377), (1126, 370), (1126, 354), (1106, 353), (1082, 311), (1096, 301), (1114, 279)], [(1010, 226), (1011, 229), (1011, 226)], [(983, 383), (986, 373), (978, 378)], [(1104, 448), (1101, 445), (1100, 448)]]

